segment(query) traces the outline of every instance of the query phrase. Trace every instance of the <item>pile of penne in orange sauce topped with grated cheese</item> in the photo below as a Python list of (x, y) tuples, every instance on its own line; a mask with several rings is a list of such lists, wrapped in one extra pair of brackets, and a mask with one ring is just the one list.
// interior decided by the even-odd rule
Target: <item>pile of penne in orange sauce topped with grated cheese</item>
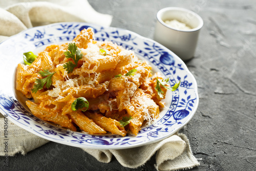
[[(155, 89), (160, 73), (152, 74), (151, 66), (138, 60), (135, 53), (112, 42), (94, 41), (92, 28), (82, 30), (72, 41), (81, 50), (82, 58), (68, 73), (65, 64), (71, 61), (65, 52), (69, 43), (48, 46), (31, 65), (18, 64), (16, 89), (34, 102), (26, 101), (34, 116), (51, 121), (72, 131), (88, 134), (111, 132), (137, 135), (145, 121), (152, 124), (164, 107)], [(36, 80), (44, 79), (40, 71), (52, 75), (50, 87), (32, 89)], [(132, 72), (131, 72), (132, 71)], [(127, 74), (128, 73), (128, 74)], [(130, 74), (129, 74), (130, 73)], [(165, 95), (166, 89), (162, 87)], [(77, 98), (86, 98), (86, 111), (73, 110)], [(127, 125), (121, 121), (129, 118)]]

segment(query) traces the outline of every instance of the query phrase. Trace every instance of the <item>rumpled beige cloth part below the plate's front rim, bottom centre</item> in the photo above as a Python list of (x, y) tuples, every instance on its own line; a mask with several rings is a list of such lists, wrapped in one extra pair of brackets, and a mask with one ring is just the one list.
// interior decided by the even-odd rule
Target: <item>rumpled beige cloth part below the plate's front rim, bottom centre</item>
[(82, 149), (104, 163), (109, 163), (114, 155), (122, 166), (130, 168), (144, 165), (156, 151), (155, 167), (157, 170), (190, 169), (200, 164), (193, 156), (188, 139), (184, 134), (176, 134), (160, 142), (130, 149)]

